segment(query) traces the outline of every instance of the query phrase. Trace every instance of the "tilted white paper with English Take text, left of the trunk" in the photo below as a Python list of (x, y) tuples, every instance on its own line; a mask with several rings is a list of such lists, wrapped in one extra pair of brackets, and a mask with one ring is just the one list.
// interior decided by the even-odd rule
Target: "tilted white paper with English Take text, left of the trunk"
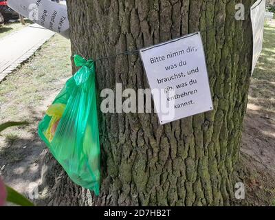
[(50, 0), (8, 0), (8, 6), (34, 23), (69, 39), (66, 5)]

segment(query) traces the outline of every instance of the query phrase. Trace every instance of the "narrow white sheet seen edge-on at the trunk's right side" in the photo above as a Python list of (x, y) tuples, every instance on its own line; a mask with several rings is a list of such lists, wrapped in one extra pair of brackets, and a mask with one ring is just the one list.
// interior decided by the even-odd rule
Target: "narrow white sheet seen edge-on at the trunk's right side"
[(253, 63), (252, 74), (263, 50), (263, 28), (265, 25), (265, 0), (258, 0), (251, 7), (253, 30)]

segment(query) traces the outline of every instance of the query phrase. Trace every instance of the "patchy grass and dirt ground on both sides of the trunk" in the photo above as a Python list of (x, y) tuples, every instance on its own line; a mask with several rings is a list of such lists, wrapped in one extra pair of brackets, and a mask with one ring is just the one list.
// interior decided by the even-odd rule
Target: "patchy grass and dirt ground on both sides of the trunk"
[[(264, 50), (252, 77), (243, 129), (239, 176), (245, 183), (246, 195), (242, 205), (275, 206), (274, 48), (275, 28), (266, 27)], [(46, 151), (36, 133), (37, 126), (70, 74), (69, 41), (54, 36), (0, 84), (0, 123), (31, 122), (1, 133), (0, 175), (8, 185), (31, 198), (35, 194), (30, 192), (36, 192), (43, 183), (47, 169), (40, 163)], [(45, 194), (47, 190), (39, 189), (39, 199)]]

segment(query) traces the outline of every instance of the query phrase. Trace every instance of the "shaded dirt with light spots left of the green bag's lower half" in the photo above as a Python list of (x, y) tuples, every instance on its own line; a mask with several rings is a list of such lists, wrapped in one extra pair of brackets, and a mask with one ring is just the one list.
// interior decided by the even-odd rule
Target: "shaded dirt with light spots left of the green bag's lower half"
[[(36, 126), (41, 117), (33, 110), (30, 110), (31, 114), (32, 118), (28, 119), (30, 125), (21, 126), (13, 131), (13, 133), (18, 131), (27, 135), (23, 137), (6, 135), (0, 148), (0, 175), (5, 183), (30, 199), (32, 199), (32, 192), (35, 192), (41, 184), (42, 167), (39, 158), (46, 148), (36, 133)], [(3, 137), (3, 134), (1, 136)]]

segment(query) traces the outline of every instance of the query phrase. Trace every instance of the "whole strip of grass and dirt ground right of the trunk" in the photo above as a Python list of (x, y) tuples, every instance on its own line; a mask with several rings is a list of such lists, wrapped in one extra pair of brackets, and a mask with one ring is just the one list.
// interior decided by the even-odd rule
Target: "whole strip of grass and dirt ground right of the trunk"
[(275, 206), (275, 23), (265, 26), (263, 52), (251, 79), (241, 146), (245, 204)]

